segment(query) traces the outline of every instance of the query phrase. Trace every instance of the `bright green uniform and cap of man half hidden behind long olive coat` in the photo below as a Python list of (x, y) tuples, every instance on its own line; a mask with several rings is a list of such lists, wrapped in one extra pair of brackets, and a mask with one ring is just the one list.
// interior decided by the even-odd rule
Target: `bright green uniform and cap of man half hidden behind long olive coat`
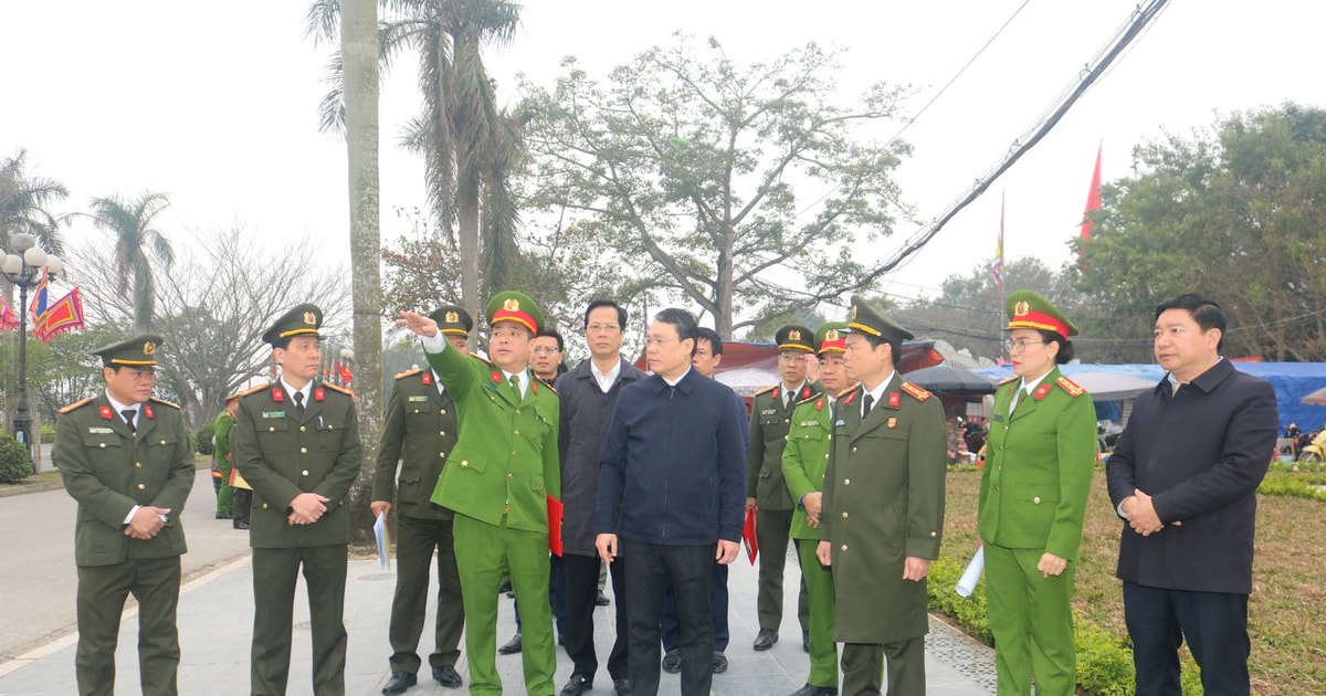
[[(846, 322), (829, 322), (815, 331), (815, 345), (821, 354), (842, 354), (841, 331)], [(829, 464), (829, 443), (833, 439), (834, 399), (829, 394), (815, 394), (797, 404), (788, 428), (788, 445), (782, 451), (782, 477), (797, 501), (792, 514), (789, 534), (797, 540), (801, 559), (801, 578), (806, 587), (806, 609), (810, 612), (810, 675), (812, 687), (838, 687), (838, 647), (833, 640), (834, 591), (833, 573), (819, 562), (815, 545), (819, 529), (806, 521), (801, 500), (808, 493), (822, 492), (825, 468)]]

